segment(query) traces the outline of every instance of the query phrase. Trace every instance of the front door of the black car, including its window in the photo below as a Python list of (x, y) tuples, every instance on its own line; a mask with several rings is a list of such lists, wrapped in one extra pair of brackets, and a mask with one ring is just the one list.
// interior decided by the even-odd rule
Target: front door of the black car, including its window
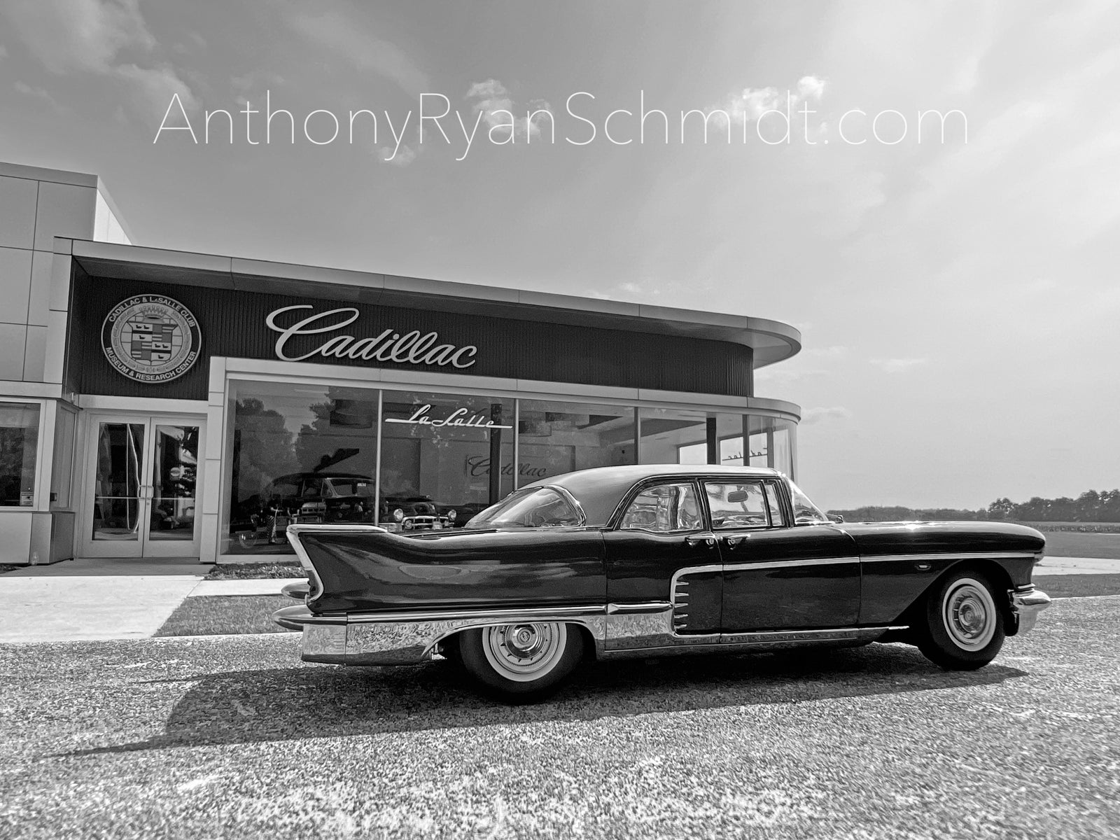
[(724, 633), (858, 622), (855, 540), (828, 524), (792, 525), (777, 478), (708, 479), (703, 491), (724, 563)]

